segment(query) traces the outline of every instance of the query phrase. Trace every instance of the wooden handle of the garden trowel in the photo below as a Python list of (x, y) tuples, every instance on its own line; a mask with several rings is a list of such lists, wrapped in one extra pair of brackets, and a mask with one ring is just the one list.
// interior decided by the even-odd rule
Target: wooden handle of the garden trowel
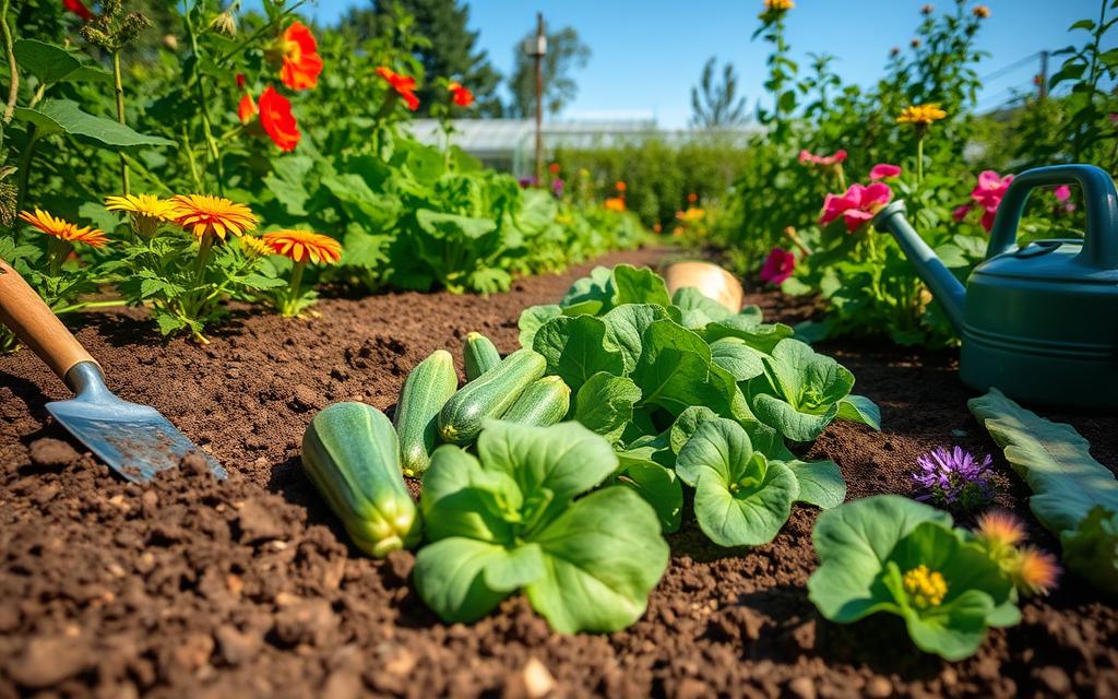
[(8, 325), (63, 381), (74, 365), (95, 362), (39, 294), (3, 259), (0, 259), (0, 322)]

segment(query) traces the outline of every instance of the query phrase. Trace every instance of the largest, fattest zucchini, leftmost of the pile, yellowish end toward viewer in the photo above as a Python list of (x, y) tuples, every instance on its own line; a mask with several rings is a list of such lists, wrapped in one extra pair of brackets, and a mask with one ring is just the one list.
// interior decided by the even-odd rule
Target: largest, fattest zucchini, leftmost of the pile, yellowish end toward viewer
[(326, 406), (303, 434), (303, 471), (372, 556), (419, 542), (421, 523), (404, 485), (392, 423), (363, 403)]

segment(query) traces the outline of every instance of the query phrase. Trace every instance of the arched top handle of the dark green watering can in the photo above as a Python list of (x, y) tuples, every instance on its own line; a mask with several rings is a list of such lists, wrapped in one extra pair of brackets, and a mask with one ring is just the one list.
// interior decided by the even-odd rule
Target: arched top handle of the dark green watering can
[(1087, 164), (1033, 168), (1015, 177), (997, 208), (986, 259), (1016, 249), (1017, 225), (1033, 188), (1072, 182), (1079, 185), (1087, 206), (1083, 251), (1076, 259), (1099, 270), (1118, 270), (1118, 192), (1105, 170)]

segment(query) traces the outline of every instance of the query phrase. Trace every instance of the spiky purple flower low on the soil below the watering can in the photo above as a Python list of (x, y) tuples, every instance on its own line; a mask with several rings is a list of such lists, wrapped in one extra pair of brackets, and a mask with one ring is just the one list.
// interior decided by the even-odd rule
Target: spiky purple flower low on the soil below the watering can
[(989, 455), (979, 462), (958, 446), (953, 450), (938, 446), (916, 462), (918, 469), (912, 481), (922, 491), (917, 500), (958, 510), (975, 510), (994, 500)]

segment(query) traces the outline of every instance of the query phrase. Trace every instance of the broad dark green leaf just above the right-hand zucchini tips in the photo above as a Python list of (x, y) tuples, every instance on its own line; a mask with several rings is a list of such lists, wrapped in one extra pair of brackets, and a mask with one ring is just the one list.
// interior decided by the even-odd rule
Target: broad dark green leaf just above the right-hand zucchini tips
[(622, 352), (606, 339), (606, 323), (593, 315), (560, 315), (543, 324), (532, 338), (532, 349), (576, 395), (591, 376), (604, 371), (622, 376)]

